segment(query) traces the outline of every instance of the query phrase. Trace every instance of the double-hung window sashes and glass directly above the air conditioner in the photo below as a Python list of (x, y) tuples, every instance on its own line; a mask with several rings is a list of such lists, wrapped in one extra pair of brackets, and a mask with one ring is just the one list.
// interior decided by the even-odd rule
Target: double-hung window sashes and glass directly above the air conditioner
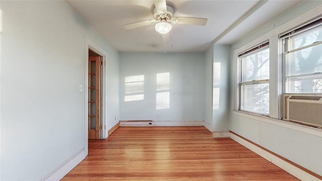
[[(321, 16), (322, 17), (322, 16)], [(297, 60), (295, 56), (295, 53), (301, 53), (301, 51), (304, 51), (304, 49), (313, 49), (314, 47), (321, 47), (322, 41), (320, 39), (316, 39), (315, 42), (314, 39), (311, 41), (311, 44), (307, 44), (302, 47), (298, 47), (295, 49), (292, 49), (293, 47), (293, 41), (295, 41), (296, 37), (303, 37), (309, 35), (310, 31), (319, 31), (322, 28), (322, 18), (319, 20), (316, 20), (308, 23), (305, 26), (302, 26), (300, 28), (295, 28), (289, 33), (283, 36), (280, 36), (284, 48), (283, 48), (283, 65), (284, 65), (284, 75), (283, 75), (283, 89), (285, 94), (300, 94), (300, 93), (306, 93), (306, 94), (321, 94), (321, 88), (320, 88), (320, 81), (322, 77), (322, 72), (320, 71), (320, 66), (315, 65), (314, 70), (308, 69), (308, 72), (299, 72), (299, 60)], [(296, 62), (294, 62), (296, 61)], [(307, 59), (307, 61), (311, 61), (311, 59)], [(320, 61), (317, 60), (317, 61)], [(317, 62), (318, 63), (318, 62)], [(317, 67), (316, 67), (317, 66)], [(311, 81), (310, 81), (311, 80)], [(303, 83), (305, 82), (305, 83)], [(302, 84), (303, 83), (303, 84)], [(309, 87), (309, 88), (308, 88)]]

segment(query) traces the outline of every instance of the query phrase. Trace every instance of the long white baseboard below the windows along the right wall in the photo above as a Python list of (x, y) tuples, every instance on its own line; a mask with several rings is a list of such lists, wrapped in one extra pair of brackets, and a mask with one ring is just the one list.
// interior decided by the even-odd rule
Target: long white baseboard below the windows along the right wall
[(263, 158), (267, 159), (268, 161), (274, 163), (278, 167), (282, 168), (283, 170), (289, 172), (290, 174), (294, 175), (300, 180), (310, 180), (310, 181), (318, 181), (320, 180), (319, 178), (305, 172), (304, 170), (288, 163), (287, 161), (265, 151), (264, 149), (246, 141), (243, 138), (240, 138), (239, 136), (230, 133), (230, 138), (233, 139), (234, 141), (238, 142), (239, 144), (247, 147), (248, 149), (254, 151), (258, 155), (262, 156)]

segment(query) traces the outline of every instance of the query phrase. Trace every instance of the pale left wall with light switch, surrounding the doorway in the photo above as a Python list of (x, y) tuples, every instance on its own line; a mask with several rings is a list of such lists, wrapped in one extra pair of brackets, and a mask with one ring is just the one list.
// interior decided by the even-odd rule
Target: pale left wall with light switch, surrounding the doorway
[(85, 37), (108, 52), (108, 126), (118, 52), (64, 1), (1, 1), (1, 180), (39, 180), (85, 149)]

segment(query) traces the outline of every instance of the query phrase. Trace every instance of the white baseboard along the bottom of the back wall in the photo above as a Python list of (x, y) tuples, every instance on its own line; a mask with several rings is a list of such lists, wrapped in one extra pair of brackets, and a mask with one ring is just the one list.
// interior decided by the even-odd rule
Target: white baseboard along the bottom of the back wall
[(120, 126), (203, 126), (204, 121), (120, 121)]

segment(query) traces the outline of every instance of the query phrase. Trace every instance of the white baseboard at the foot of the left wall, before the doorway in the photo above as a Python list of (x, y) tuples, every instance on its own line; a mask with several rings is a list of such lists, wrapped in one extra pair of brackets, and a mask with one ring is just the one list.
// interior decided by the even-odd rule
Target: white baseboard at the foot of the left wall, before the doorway
[(85, 150), (84, 148), (78, 151), (75, 155), (71, 156), (68, 160), (66, 160), (63, 164), (53, 170), (50, 174), (44, 177), (41, 180), (48, 180), (48, 181), (56, 181), (60, 180), (64, 177), (73, 167), (75, 167), (79, 162), (81, 162), (84, 158)]

